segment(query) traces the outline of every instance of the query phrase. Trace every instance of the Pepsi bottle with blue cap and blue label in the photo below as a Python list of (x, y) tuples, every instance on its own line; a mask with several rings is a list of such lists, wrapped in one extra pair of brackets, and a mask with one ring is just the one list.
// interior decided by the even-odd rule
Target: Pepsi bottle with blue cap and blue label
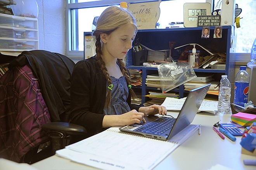
[(240, 71), (235, 76), (234, 103), (244, 107), (248, 102), (249, 75), (246, 72), (246, 66), (240, 66)]

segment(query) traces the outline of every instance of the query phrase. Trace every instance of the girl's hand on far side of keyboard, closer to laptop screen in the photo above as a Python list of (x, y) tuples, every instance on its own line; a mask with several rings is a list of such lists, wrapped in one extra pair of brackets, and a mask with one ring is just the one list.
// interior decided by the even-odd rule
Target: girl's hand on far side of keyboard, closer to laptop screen
[(167, 110), (165, 106), (160, 105), (152, 105), (148, 107), (140, 107), (139, 112), (144, 113), (144, 116), (147, 115), (167, 115)]

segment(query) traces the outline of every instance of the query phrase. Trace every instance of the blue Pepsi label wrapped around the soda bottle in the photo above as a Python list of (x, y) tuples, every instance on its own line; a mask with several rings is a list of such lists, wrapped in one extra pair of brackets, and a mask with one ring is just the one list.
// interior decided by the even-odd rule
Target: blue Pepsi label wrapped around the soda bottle
[(235, 82), (234, 103), (244, 104), (248, 102), (249, 82)]

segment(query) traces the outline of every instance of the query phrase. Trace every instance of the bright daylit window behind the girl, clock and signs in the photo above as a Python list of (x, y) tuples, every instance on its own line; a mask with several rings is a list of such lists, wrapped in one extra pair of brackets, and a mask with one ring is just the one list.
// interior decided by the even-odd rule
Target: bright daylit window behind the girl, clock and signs
[[(68, 19), (67, 54), (69, 56), (83, 56), (83, 32), (92, 31), (93, 19), (99, 16), (110, 5), (119, 5), (123, 0), (67, 0), (66, 18)], [(145, 0), (127, 0), (126, 2), (145, 2)], [(153, 0), (148, 0), (153, 1)], [(211, 2), (211, 0), (162, 0), (160, 3), (161, 14), (158, 22), (162, 28), (170, 22), (183, 22), (183, 4), (187, 2)], [(214, 4), (220, 4), (222, 0), (215, 0)], [(236, 0), (239, 8), (242, 8), (241, 27), (237, 31), (237, 53), (250, 53), (256, 33), (253, 30), (256, 24), (255, 0)]]

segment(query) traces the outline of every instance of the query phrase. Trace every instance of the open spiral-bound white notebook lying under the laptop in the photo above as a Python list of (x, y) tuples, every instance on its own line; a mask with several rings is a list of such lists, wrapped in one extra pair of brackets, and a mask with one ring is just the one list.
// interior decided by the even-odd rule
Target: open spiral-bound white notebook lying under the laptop
[(121, 132), (119, 127), (66, 146), (57, 156), (106, 170), (150, 170), (198, 130), (189, 125), (169, 141)]

